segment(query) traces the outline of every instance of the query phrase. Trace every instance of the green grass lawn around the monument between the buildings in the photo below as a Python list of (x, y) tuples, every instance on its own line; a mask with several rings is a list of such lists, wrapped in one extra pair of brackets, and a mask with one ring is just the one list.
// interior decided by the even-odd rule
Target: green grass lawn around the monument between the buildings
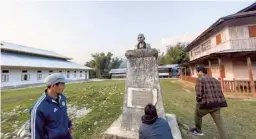
[[(179, 80), (162, 80), (163, 101), (166, 113), (174, 113), (182, 124), (193, 127), (194, 87)], [(41, 95), (44, 88), (5, 91), (1, 94), (1, 132), (18, 129), (28, 119), (27, 109)], [(68, 103), (90, 108), (83, 118), (74, 119), (74, 139), (101, 138), (102, 133), (118, 118), (122, 111), (124, 81), (102, 81), (68, 84), (65, 95)], [(256, 100), (228, 98), (228, 108), (222, 110), (230, 139), (256, 138)], [(217, 129), (208, 115), (203, 119), (205, 136), (199, 139), (218, 138)]]

